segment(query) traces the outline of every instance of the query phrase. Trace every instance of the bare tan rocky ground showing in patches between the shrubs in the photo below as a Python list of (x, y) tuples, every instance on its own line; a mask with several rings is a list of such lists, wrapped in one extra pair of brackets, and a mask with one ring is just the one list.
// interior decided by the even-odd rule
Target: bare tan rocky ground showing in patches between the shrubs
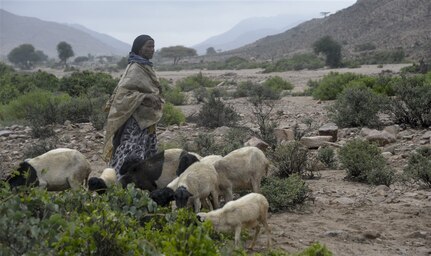
[[(359, 69), (338, 69), (337, 72), (377, 74), (383, 70), (398, 72), (403, 65), (386, 65), (383, 68), (364, 66)], [(309, 79), (319, 79), (331, 70), (295, 71), (277, 74), (262, 74), (259, 70), (202, 71), (206, 76), (219, 80), (262, 81), (270, 75), (279, 75), (295, 85), (295, 91), (302, 91)], [(386, 72), (389, 72), (386, 71)], [(159, 76), (176, 81), (199, 71), (159, 72)], [(242, 124), (250, 128), (253, 116), (250, 106), (243, 99), (229, 102), (241, 113)], [(282, 98), (276, 109), (282, 113), (280, 128), (303, 124), (312, 119), (316, 129), (328, 122), (325, 106), (330, 102), (319, 102), (311, 97)], [(181, 106), (186, 116), (199, 110), (199, 105)], [(103, 131), (96, 131), (89, 123), (66, 123), (54, 128), (57, 147), (80, 150), (90, 160), (93, 172), (98, 173), (106, 166), (101, 159)], [(390, 126), (394, 140), (382, 150), (388, 163), (398, 172), (406, 164), (409, 153), (421, 145), (430, 145), (431, 130), (401, 129)], [(169, 143), (179, 136), (193, 139), (203, 130), (193, 123), (181, 127), (172, 126), (159, 130), (161, 143)], [(214, 136), (223, 129), (211, 132)], [(336, 145), (342, 145), (354, 137), (366, 137), (360, 129), (339, 129)], [(0, 127), (0, 167), (4, 177), (19, 161), (31, 145), (40, 144), (31, 138), (31, 130), (20, 125)], [(294, 212), (273, 213), (269, 224), (272, 229), (274, 248), (290, 252), (299, 251), (313, 242), (325, 244), (334, 255), (431, 255), (431, 189), (412, 184), (394, 184), (391, 187), (369, 186), (345, 181), (344, 170), (321, 170), (319, 179), (306, 182), (313, 191), (314, 202)], [(256, 251), (265, 246), (265, 235), (259, 238)]]

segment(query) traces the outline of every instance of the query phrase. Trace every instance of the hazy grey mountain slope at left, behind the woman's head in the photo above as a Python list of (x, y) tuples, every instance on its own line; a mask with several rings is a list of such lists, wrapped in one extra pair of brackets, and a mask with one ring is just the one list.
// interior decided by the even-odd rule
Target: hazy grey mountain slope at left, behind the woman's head
[[(130, 45), (108, 35), (93, 32), (78, 25), (67, 25), (24, 17), (0, 9), (0, 55), (24, 43), (49, 57), (57, 57), (57, 44), (65, 41), (72, 46), (75, 56), (125, 56)], [(78, 28), (79, 27), (79, 28)]]

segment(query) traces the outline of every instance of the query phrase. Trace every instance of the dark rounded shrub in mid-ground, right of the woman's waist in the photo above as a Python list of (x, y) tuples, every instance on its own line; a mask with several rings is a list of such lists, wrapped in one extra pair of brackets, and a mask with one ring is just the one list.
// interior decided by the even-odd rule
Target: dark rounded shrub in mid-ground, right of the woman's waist
[(235, 110), (226, 106), (219, 98), (210, 96), (208, 102), (202, 105), (197, 116), (197, 124), (208, 128), (220, 126), (235, 126), (239, 115)]

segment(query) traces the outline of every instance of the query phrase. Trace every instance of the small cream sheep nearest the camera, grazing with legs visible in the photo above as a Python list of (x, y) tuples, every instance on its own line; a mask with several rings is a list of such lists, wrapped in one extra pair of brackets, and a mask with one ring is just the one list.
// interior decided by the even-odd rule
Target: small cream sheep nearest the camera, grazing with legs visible
[(218, 232), (235, 231), (235, 247), (238, 247), (241, 228), (255, 228), (253, 241), (249, 248), (253, 249), (260, 225), (265, 228), (267, 235), (267, 247), (271, 248), (271, 231), (268, 226), (268, 200), (259, 193), (249, 193), (235, 201), (226, 203), (223, 208), (210, 211), (199, 212), (197, 217), (200, 221), (209, 220), (214, 229)]

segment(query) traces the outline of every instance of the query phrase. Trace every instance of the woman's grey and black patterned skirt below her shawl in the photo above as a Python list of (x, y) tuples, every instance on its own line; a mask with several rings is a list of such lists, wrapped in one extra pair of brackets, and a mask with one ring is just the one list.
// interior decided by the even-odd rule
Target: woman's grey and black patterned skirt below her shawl
[[(150, 127), (152, 129), (150, 129)], [(113, 156), (109, 166), (115, 169), (120, 179), (120, 169), (129, 156), (147, 159), (157, 153), (157, 135), (153, 126), (144, 129), (130, 117), (114, 135)]]

